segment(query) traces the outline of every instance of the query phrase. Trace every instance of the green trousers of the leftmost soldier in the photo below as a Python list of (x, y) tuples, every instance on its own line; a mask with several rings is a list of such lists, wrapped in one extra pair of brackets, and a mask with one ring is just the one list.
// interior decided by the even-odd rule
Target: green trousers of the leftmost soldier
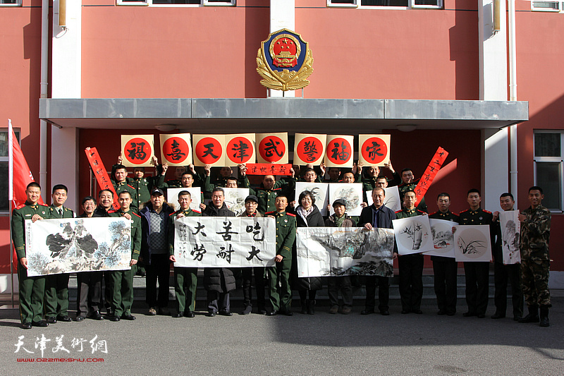
[(27, 269), (18, 264), (18, 286), (22, 324), (42, 320), (45, 277), (27, 277)]

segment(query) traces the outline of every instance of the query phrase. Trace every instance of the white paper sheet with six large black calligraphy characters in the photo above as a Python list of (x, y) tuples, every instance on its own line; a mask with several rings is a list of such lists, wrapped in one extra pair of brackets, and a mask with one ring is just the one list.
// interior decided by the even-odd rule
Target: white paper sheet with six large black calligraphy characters
[(257, 217), (174, 220), (175, 267), (266, 267), (276, 256), (276, 222)]

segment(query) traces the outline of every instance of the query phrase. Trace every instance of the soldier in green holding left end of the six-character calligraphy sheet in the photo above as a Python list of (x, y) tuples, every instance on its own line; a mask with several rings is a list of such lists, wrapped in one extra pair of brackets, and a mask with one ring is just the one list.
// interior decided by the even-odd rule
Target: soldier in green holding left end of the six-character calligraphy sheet
[[(168, 216), (168, 259), (176, 262), (174, 255), (174, 222), (181, 217), (200, 217), (197, 210), (191, 210), (192, 196), (188, 190), (178, 193), (180, 209)], [(172, 317), (195, 317), (196, 288), (198, 282), (197, 267), (174, 267), (174, 292), (176, 293), (176, 313)]]

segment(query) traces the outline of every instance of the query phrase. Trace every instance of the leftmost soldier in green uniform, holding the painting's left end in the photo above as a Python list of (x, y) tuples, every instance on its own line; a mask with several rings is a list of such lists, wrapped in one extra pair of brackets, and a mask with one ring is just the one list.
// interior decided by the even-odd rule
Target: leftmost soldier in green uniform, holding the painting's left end
[(18, 287), (20, 298), (20, 320), (23, 329), (47, 327), (43, 317), (43, 298), (45, 277), (27, 277), (27, 253), (25, 249), (25, 219), (33, 222), (47, 217), (47, 205), (39, 204), (41, 187), (32, 181), (25, 189), (25, 204), (16, 207), (12, 212), (12, 241), (18, 256)]

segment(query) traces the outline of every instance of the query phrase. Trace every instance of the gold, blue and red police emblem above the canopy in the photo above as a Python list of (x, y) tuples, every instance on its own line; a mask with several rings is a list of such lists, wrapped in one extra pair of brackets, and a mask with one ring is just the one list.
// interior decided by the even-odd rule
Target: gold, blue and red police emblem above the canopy
[(261, 42), (257, 54), (260, 83), (274, 90), (298, 90), (309, 85), (306, 78), (313, 73), (313, 57), (309, 44), (288, 29), (278, 30)]

